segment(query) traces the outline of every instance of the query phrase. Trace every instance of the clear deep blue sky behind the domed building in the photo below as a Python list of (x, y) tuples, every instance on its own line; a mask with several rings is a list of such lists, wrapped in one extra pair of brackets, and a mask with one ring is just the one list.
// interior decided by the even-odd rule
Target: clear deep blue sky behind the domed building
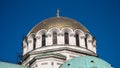
[(23, 36), (57, 8), (96, 37), (100, 58), (120, 67), (120, 0), (0, 0), (0, 61), (19, 61)]

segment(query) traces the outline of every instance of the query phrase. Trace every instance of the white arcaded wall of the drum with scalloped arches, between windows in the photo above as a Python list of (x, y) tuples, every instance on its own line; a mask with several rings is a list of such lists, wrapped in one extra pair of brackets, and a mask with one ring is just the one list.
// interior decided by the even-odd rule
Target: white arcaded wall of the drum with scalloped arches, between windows
[[(73, 31), (71, 28), (64, 28), (60, 30), (54, 27), (54, 28), (49, 29), (48, 31), (45, 29), (42, 29), (38, 31), (36, 34), (30, 34), (30, 36), (25, 38), (27, 39), (27, 41), (26, 42), (23, 41), (23, 55), (33, 50), (34, 43), (36, 43), (35, 48), (42, 47), (42, 34), (46, 35), (46, 46), (53, 45), (53, 32), (57, 33), (57, 44), (65, 44), (64, 33), (67, 32), (69, 34), (69, 45), (75, 45), (75, 46), (76, 46), (75, 34), (77, 33), (79, 34), (79, 44), (80, 44), (79, 46), (83, 48), (88, 48), (89, 50), (96, 53), (96, 47), (95, 47), (96, 42), (95, 40), (93, 40), (93, 37), (91, 34), (89, 33), (85, 34), (80, 29), (76, 29)], [(34, 42), (34, 38), (36, 38), (36, 42)], [(87, 38), (87, 42), (85, 42), (85, 38)], [(85, 43), (87, 43), (87, 47), (85, 46)]]

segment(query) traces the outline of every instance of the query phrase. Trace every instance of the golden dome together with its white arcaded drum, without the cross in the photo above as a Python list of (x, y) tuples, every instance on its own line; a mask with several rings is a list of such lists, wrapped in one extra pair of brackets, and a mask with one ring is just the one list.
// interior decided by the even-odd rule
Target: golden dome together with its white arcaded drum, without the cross
[[(33, 27), (24, 38), (22, 64), (29, 66), (28, 62), (34, 61), (35, 57), (41, 54), (60, 59), (59, 64), (77, 56), (97, 56), (96, 40), (87, 28), (76, 20), (61, 16), (48, 18)], [(57, 54), (64, 57), (60, 58)]]

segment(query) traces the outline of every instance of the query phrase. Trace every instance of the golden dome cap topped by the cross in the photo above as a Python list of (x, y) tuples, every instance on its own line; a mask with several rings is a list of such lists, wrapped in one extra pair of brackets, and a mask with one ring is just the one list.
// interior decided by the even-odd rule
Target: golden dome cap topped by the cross
[[(43, 20), (42, 22), (38, 23), (33, 29), (30, 31), (30, 33), (36, 33), (37, 31), (41, 29), (50, 29), (52, 27), (57, 27), (59, 29), (62, 29), (64, 27), (69, 27), (73, 30), (75, 29), (81, 29), (83, 32), (89, 32), (82, 24), (79, 22), (67, 18), (67, 17), (52, 17)], [(30, 34), (29, 33), (29, 34)]]

